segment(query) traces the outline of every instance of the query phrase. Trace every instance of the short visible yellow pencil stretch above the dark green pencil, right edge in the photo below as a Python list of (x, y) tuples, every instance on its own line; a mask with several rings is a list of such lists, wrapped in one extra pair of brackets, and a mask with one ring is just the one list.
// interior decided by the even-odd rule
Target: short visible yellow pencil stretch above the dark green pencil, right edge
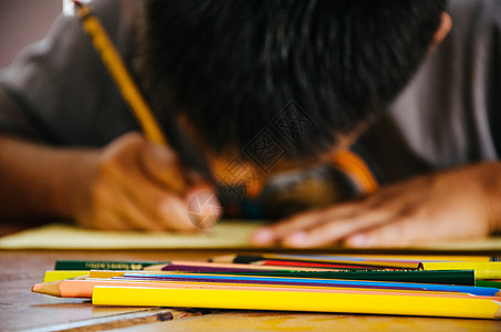
[(424, 270), (474, 270), (474, 279), (501, 279), (501, 262), (422, 262)]

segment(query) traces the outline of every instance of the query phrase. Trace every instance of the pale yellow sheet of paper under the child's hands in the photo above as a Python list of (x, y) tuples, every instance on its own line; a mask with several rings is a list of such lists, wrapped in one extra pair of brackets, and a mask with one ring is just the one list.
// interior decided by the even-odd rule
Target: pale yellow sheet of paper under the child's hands
[[(249, 238), (263, 221), (223, 220), (207, 232), (103, 231), (51, 224), (0, 238), (0, 249), (251, 249)], [(342, 249), (331, 246), (328, 249)], [(501, 237), (421, 242), (406, 250), (501, 251)]]

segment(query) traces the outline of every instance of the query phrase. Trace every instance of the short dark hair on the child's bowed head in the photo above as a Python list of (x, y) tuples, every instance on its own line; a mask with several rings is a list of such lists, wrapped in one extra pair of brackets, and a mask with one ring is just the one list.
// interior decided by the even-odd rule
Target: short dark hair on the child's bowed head
[[(149, 97), (182, 113), (215, 152), (264, 128), (314, 157), (373, 118), (426, 56), (446, 0), (149, 0)], [(311, 131), (284, 137), (294, 101)], [(161, 116), (161, 114), (160, 114)], [(286, 135), (285, 135), (286, 136)]]

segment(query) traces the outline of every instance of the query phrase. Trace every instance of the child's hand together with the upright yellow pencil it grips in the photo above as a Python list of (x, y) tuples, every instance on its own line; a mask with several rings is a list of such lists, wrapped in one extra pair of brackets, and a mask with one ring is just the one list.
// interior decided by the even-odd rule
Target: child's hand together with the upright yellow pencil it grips
[[(161, 127), (128, 73), (121, 55), (90, 8), (73, 1), (82, 28), (147, 139), (127, 134), (88, 158), (87, 176), (76, 193), (74, 217), (101, 229), (195, 230), (219, 219), (219, 201), (210, 185), (182, 169)], [(208, 173), (208, 172), (207, 172)], [(192, 197), (209, 198), (200, 205)], [(195, 206), (190, 206), (195, 205)], [(203, 201), (202, 201), (203, 204)], [(192, 211), (188, 215), (189, 211)]]

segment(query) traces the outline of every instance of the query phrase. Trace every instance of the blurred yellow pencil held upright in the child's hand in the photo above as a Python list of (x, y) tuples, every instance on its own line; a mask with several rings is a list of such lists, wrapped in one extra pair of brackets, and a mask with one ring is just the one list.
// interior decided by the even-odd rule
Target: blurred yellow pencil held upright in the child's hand
[(118, 85), (124, 100), (139, 121), (146, 138), (159, 145), (167, 146), (167, 138), (163, 134), (148, 104), (134, 83), (122, 56), (116, 51), (105, 29), (87, 6), (80, 1), (73, 2), (75, 3), (76, 14), (82, 21), (83, 29), (92, 38), (94, 48), (100, 52), (101, 59)]

